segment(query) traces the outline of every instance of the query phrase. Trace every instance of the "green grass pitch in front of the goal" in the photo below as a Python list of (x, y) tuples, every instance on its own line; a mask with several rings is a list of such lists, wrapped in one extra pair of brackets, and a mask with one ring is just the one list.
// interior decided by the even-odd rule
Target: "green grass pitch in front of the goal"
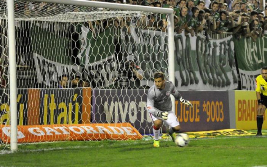
[(0, 166), (264, 166), (266, 137), (191, 139), (185, 148), (172, 141), (153, 148), (152, 140), (28, 144), (0, 155)]

